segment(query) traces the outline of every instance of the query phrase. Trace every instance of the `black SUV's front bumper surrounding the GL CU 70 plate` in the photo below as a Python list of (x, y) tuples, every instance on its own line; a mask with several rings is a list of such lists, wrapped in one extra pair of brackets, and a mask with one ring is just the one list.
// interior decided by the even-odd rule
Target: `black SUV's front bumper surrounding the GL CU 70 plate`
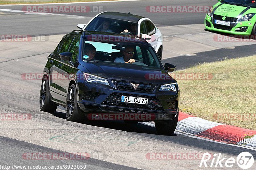
[[(126, 91), (114, 88), (114, 85), (79, 83), (79, 107), (88, 114), (136, 114), (150, 115), (145, 120), (169, 121), (176, 117), (179, 110), (179, 92)], [(148, 98), (148, 105), (121, 103), (121, 96)]]

